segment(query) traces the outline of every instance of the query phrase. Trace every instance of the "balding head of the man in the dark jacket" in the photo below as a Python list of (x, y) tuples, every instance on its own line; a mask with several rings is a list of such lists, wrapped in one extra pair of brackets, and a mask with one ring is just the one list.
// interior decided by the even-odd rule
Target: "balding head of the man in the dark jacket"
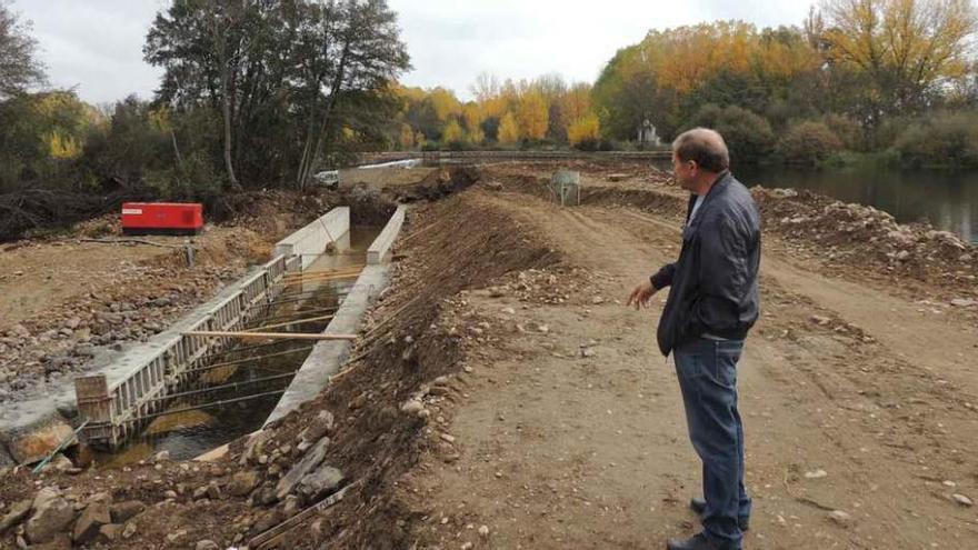
[(687, 191), (703, 194), (717, 176), (730, 168), (730, 153), (723, 137), (715, 130), (693, 128), (672, 142), (672, 171)]

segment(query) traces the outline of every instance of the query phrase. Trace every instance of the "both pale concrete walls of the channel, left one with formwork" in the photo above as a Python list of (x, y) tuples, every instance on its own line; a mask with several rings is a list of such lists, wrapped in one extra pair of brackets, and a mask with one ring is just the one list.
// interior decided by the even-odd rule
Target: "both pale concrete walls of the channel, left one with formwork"
[[(323, 334), (355, 334), (363, 313), (389, 284), (390, 250), (405, 220), (405, 207), (370, 244), (372, 259), (359, 272), (331, 316)], [(236, 331), (257, 318), (282, 293), (286, 280), (303, 270), (330, 266), (330, 254), (350, 242), (350, 210), (327, 212), (283, 239), (273, 258), (230, 284), (209, 302), (196, 308), (167, 331), (123, 353), (108, 354), (86, 376), (76, 378), (54, 394), (34, 402), (14, 403), (14, 411), (0, 418), (0, 441), (9, 459), (31, 463), (60, 443), (78, 439), (96, 447), (116, 449), (140, 433), (146, 419), (166, 414), (168, 396), (186, 393), (207, 361), (234, 340), (186, 334), (188, 331)], [(327, 253), (329, 252), (329, 253)], [(362, 260), (361, 260), (362, 261)], [(301, 277), (301, 276), (300, 276)], [(300, 289), (308, 291), (305, 287)], [(301, 293), (301, 292), (300, 292)], [(312, 399), (347, 360), (352, 342), (329, 340), (316, 344), (267, 420), (281, 418)], [(255, 426), (255, 429), (260, 428)], [(2, 453), (0, 453), (2, 462)], [(2, 464), (0, 464), (2, 466)]]

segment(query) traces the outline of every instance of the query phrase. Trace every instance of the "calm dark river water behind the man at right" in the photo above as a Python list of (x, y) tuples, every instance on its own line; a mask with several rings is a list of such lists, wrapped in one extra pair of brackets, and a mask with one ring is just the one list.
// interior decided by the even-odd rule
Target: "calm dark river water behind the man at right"
[(897, 170), (884, 167), (812, 170), (741, 167), (747, 186), (808, 189), (891, 213), (897, 221), (929, 221), (978, 243), (978, 172)]

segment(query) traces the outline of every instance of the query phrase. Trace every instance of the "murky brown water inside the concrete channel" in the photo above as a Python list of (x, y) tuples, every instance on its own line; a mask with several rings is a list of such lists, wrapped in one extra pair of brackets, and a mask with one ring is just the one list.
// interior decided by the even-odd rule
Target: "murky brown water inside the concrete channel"
[[(333, 269), (366, 263), (367, 249), (380, 233), (380, 228), (353, 227), (350, 233), (339, 239), (336, 254), (318, 259), (308, 270)], [(323, 308), (335, 309), (345, 288), (352, 280), (331, 282), (303, 282), (300, 289), (288, 292), (313, 292), (309, 300), (288, 302), (283, 306), (269, 308), (266, 316), (252, 322), (253, 326), (278, 323), (283, 320), (307, 319), (323, 314)], [(305, 294), (303, 294), (305, 296)], [(328, 314), (328, 311), (327, 311)], [(311, 322), (296, 326), (296, 332), (321, 332), (328, 321)], [(242, 344), (237, 351), (216, 354), (210, 364), (220, 363), (212, 370), (203, 371), (198, 382), (190, 388), (181, 388), (181, 392), (193, 391), (214, 386), (237, 383), (237, 388), (209, 391), (199, 396), (174, 399), (168, 403), (168, 411), (180, 411), (158, 417), (150, 421), (139, 438), (134, 438), (121, 450), (111, 454), (97, 454), (94, 458), (101, 466), (124, 466), (147, 459), (158, 452), (168, 451), (174, 460), (187, 460), (232, 441), (246, 433), (255, 431), (278, 404), (280, 396), (268, 396), (247, 401), (231, 402), (220, 407), (193, 409), (203, 403), (228, 401), (249, 394), (283, 390), (291, 378), (278, 378), (263, 381), (271, 377), (280, 377), (295, 372), (308, 357), (312, 344), (309, 341), (278, 341), (269, 344)], [(244, 349), (247, 347), (247, 349)], [(253, 360), (249, 360), (253, 359)], [(233, 363), (224, 367), (224, 363)], [(257, 381), (249, 383), (249, 381)], [(186, 410), (191, 409), (191, 410)]]

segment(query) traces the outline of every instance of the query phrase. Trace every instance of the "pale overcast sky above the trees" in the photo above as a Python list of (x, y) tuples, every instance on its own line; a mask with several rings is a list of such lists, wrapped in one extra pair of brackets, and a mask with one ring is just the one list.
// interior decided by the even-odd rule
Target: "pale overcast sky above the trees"
[[(9, 1), (9, 0), (8, 0)], [(413, 70), (401, 80), (467, 98), (481, 72), (560, 73), (593, 81), (615, 51), (649, 29), (717, 19), (800, 24), (810, 0), (388, 0), (399, 13)], [(51, 82), (90, 102), (149, 98), (160, 72), (142, 61), (153, 16), (168, 0), (12, 0), (33, 22)]]

